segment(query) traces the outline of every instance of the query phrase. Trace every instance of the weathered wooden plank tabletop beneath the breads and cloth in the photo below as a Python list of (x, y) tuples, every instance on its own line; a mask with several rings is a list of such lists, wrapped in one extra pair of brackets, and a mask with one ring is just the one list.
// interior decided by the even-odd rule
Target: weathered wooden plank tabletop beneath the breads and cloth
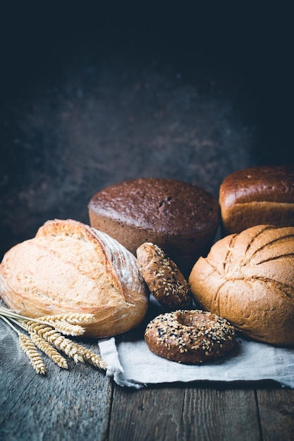
[(4, 323), (0, 336), (1, 441), (294, 440), (294, 390), (276, 383), (135, 390), (71, 361), (37, 375)]

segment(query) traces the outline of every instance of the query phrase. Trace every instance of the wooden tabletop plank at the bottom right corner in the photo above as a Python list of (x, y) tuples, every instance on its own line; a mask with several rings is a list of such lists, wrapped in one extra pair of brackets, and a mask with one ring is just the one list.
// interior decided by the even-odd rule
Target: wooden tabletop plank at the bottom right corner
[(264, 441), (294, 440), (294, 390), (257, 390)]

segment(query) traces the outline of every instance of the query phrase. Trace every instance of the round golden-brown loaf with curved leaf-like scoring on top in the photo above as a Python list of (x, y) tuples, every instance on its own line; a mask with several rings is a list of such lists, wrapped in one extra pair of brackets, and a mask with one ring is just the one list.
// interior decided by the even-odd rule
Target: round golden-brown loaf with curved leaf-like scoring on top
[(214, 244), (190, 274), (202, 309), (251, 337), (294, 344), (294, 228), (257, 225)]

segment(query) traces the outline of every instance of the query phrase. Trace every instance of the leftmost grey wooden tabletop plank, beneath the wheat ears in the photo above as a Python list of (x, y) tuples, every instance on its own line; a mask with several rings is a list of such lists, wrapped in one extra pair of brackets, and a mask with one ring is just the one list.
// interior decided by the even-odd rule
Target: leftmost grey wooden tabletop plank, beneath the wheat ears
[(47, 375), (37, 375), (3, 322), (0, 352), (1, 440), (106, 439), (112, 385), (104, 373), (74, 361), (66, 371), (44, 359)]

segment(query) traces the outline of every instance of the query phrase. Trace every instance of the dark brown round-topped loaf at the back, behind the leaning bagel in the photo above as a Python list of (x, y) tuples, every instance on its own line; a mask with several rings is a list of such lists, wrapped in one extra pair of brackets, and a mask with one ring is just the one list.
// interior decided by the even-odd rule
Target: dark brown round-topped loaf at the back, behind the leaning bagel
[(220, 223), (218, 201), (197, 185), (142, 178), (111, 185), (88, 204), (90, 225), (134, 255), (144, 242), (157, 244), (188, 277), (206, 255)]

